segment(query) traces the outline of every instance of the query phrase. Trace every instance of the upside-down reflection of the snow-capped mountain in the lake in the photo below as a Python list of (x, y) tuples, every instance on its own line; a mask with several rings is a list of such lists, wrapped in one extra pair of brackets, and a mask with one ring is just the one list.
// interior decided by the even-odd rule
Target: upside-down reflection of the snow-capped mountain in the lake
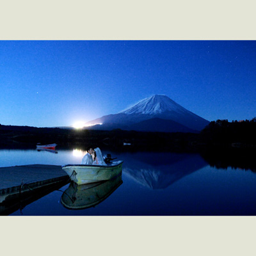
[(206, 165), (199, 154), (141, 152), (129, 157), (123, 172), (147, 188), (164, 189)]

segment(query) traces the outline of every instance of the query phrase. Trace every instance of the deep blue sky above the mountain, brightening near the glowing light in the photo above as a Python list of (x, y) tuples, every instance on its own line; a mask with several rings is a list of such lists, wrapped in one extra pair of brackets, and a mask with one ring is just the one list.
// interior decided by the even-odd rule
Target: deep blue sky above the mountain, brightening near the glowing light
[(256, 116), (256, 41), (0, 41), (0, 124), (54, 127), (164, 94), (212, 121)]

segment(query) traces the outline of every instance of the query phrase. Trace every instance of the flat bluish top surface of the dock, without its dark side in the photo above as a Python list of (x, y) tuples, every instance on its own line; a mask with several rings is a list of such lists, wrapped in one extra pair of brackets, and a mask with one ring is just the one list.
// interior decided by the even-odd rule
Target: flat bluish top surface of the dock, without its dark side
[(0, 189), (67, 176), (61, 166), (29, 164), (0, 168)]

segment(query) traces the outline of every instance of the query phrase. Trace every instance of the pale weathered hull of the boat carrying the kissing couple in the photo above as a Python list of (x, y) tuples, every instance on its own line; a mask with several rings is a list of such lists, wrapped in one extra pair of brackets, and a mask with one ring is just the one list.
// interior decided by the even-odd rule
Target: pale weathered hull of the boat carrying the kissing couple
[(66, 164), (62, 169), (67, 172), (76, 184), (88, 184), (110, 180), (122, 173), (123, 161), (115, 161), (106, 165), (99, 164)]

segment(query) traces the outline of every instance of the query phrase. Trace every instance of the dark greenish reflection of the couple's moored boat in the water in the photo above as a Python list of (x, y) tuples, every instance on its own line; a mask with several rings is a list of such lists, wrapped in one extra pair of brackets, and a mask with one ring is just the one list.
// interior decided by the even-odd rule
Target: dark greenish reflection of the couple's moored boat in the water
[(61, 204), (67, 209), (86, 209), (94, 207), (110, 196), (121, 184), (122, 173), (111, 180), (77, 185), (70, 182), (61, 196)]

